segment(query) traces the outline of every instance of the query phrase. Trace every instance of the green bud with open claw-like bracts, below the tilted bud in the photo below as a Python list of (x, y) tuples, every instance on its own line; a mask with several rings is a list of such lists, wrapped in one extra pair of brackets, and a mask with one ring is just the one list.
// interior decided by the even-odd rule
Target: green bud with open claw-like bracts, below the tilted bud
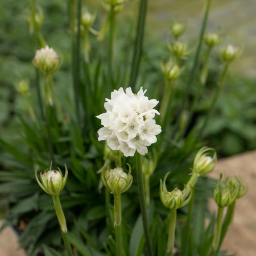
[(184, 207), (191, 199), (191, 187), (185, 185), (183, 191), (175, 188), (172, 192), (168, 192), (166, 188), (166, 179), (170, 174), (168, 172), (163, 181), (160, 179), (160, 199), (163, 205), (172, 210)]

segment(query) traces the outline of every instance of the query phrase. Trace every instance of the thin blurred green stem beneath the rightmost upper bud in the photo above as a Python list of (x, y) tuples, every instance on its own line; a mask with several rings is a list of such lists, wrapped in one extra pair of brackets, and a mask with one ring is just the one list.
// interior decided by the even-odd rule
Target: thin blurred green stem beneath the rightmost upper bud
[(218, 99), (218, 96), (220, 95), (220, 92), (222, 90), (222, 87), (224, 85), (224, 81), (225, 81), (225, 78), (226, 78), (226, 74), (228, 73), (228, 67), (229, 67), (229, 63), (226, 63), (225, 64), (225, 67), (224, 67), (224, 70), (222, 72), (222, 75), (221, 75), (221, 79), (220, 79), (220, 82), (217, 86), (217, 89), (215, 91), (215, 94), (214, 94), (214, 97), (213, 97), (213, 101), (212, 101), (212, 104), (210, 104), (210, 109), (204, 119), (204, 123), (203, 123), (203, 126), (201, 127), (201, 129), (199, 130), (199, 133), (198, 135), (202, 136), (203, 135), (203, 132), (204, 132), (204, 129), (205, 127), (207, 126), (207, 123), (209, 121), (209, 118), (210, 118), (210, 115), (212, 114), (213, 112), (213, 109), (215, 108), (215, 104), (216, 104), (216, 101)]

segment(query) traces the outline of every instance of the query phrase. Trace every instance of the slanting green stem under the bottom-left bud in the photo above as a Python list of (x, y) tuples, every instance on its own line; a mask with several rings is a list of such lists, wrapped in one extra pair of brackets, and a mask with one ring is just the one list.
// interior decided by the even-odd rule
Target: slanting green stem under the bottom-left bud
[(71, 245), (68, 240), (68, 229), (67, 229), (66, 219), (65, 219), (63, 209), (60, 204), (59, 196), (53, 196), (52, 200), (53, 200), (53, 205), (55, 208), (56, 216), (57, 216), (57, 219), (60, 224), (61, 236), (63, 238), (65, 248), (67, 250), (68, 256), (73, 256)]

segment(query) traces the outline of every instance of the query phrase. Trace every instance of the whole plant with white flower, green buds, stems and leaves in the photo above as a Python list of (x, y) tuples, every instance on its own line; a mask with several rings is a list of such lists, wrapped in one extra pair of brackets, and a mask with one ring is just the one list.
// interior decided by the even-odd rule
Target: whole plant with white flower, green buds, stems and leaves
[[(35, 77), (14, 81), (27, 107), (22, 136), (18, 144), (0, 140), (3, 227), (19, 230), (28, 255), (217, 255), (246, 187), (238, 178), (207, 177), (217, 154), (203, 147), (204, 133), (241, 49), (205, 34), (211, 0), (196, 51), (174, 21), (165, 53), (151, 38), (143, 43), (147, 0), (130, 6), (139, 10), (135, 42), (133, 22), (119, 15), (128, 1), (102, 1), (104, 19), (81, 0), (67, 2), (69, 19), (58, 24), (66, 37), (54, 42), (31, 0)], [(197, 118), (214, 52), (224, 67)], [(38, 169), (46, 170), (40, 178)], [(212, 191), (217, 221), (205, 207)]]

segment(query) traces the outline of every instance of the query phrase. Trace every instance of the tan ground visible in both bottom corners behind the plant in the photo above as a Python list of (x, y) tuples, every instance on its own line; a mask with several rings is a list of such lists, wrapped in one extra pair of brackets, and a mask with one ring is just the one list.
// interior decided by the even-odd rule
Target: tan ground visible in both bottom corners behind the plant
[[(213, 177), (220, 173), (228, 176), (241, 176), (249, 189), (245, 197), (237, 201), (234, 221), (224, 240), (222, 249), (236, 256), (256, 255), (256, 151), (232, 156), (218, 161)], [(214, 202), (210, 204), (216, 210)], [(18, 238), (11, 228), (0, 234), (0, 255), (25, 256), (23, 250), (17, 250)]]

